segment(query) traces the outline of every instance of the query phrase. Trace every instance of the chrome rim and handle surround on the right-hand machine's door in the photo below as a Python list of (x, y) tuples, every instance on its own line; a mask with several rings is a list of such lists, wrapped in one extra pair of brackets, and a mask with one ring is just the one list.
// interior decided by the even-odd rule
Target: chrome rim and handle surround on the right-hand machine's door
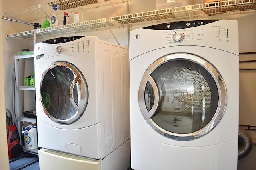
[[(146, 109), (145, 103), (144, 103), (144, 89), (146, 87), (146, 83), (150, 82), (153, 87), (156, 87), (156, 82), (153, 80), (153, 78), (150, 76), (150, 74), (158, 68), (161, 64), (164, 64), (169, 61), (174, 61), (174, 60), (188, 60), (194, 63), (199, 64), (203, 68), (205, 68), (206, 71), (208, 71), (211, 76), (214, 78), (214, 81), (216, 83), (216, 86), (218, 88), (218, 107), (216, 109), (216, 112), (214, 114), (214, 117), (212, 117), (211, 121), (201, 128), (198, 131), (195, 131), (193, 133), (186, 133), (186, 134), (180, 134), (180, 133), (173, 133), (170, 131), (166, 131), (165, 129), (161, 128), (158, 126), (152, 119), (152, 115), (155, 113), (158, 103), (159, 103), (159, 93), (156, 88), (155, 91), (155, 98), (154, 98), (154, 105), (150, 111)], [(153, 80), (153, 81), (152, 81)], [(226, 102), (227, 102), (227, 97), (226, 97), (226, 86), (224, 83), (224, 80), (220, 73), (216, 70), (210, 62), (206, 61), (205, 59), (202, 59), (201, 57), (198, 57), (196, 55), (188, 54), (188, 53), (174, 53), (170, 55), (166, 55), (164, 57), (161, 57), (160, 59), (154, 61), (148, 69), (144, 72), (144, 75), (142, 76), (142, 80), (139, 85), (138, 89), (138, 102), (140, 106), (140, 110), (142, 112), (143, 117), (147, 121), (147, 123), (158, 133), (171, 138), (171, 139), (176, 139), (176, 140), (192, 140), (192, 139), (197, 139), (198, 137), (202, 137), (203, 135), (206, 135), (209, 131), (211, 131), (220, 121), (222, 118), (224, 111), (226, 109)]]

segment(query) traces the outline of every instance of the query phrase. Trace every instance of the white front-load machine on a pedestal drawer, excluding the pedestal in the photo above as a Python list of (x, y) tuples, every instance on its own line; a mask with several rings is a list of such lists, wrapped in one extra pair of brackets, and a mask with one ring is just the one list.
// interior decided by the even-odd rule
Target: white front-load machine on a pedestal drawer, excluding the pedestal
[(39, 147), (102, 160), (129, 141), (127, 47), (93, 36), (37, 43), (35, 88)]

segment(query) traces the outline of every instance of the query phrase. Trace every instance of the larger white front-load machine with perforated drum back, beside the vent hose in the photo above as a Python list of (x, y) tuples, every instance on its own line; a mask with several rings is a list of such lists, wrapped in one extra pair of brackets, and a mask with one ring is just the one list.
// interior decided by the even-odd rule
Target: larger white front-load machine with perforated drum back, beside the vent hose
[(130, 33), (131, 168), (236, 170), (238, 22)]

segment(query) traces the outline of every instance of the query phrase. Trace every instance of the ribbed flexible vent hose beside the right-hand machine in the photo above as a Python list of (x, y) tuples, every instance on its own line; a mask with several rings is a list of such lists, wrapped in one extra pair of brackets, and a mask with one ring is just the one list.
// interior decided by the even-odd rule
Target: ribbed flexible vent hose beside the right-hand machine
[(240, 128), (238, 133), (238, 159), (244, 158), (251, 150), (252, 137)]

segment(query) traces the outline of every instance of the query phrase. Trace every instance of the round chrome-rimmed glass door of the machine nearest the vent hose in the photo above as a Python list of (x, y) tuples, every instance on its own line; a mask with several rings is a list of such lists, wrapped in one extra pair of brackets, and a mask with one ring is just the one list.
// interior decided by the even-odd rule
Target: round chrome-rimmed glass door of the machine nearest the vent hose
[(161, 135), (192, 140), (210, 132), (226, 108), (220, 73), (202, 57), (166, 55), (144, 73), (138, 102), (148, 124)]

